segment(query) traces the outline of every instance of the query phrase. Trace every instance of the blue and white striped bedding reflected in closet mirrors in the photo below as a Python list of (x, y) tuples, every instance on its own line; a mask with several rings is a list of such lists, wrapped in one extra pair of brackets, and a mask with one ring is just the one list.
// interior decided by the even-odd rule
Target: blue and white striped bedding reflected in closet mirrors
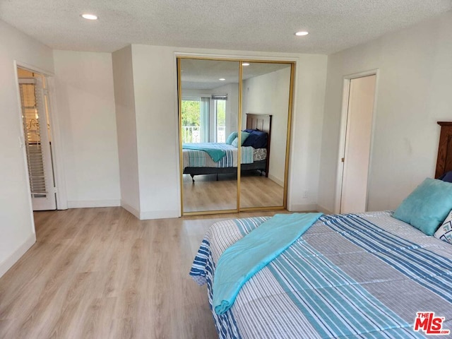
[[(182, 149), (182, 157), (185, 167), (237, 167), (237, 147), (227, 143), (209, 143), (212, 147), (218, 147), (225, 151), (225, 156), (218, 162), (214, 162), (208, 153), (203, 150)], [(254, 148), (242, 146), (241, 164), (252, 164), (254, 162)]]

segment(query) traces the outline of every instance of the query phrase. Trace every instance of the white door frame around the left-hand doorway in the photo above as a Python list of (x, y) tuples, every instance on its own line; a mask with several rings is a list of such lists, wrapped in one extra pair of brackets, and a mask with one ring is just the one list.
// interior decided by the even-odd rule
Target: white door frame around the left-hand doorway
[[(47, 88), (49, 89), (49, 120), (50, 120), (50, 133), (52, 136), (52, 169), (54, 172), (54, 180), (55, 180), (55, 197), (57, 199), (57, 210), (66, 210), (68, 208), (67, 194), (66, 194), (66, 178), (64, 175), (64, 162), (63, 162), (63, 149), (61, 147), (61, 133), (59, 127), (59, 120), (57, 114), (57, 100), (55, 93), (55, 84), (54, 84), (54, 74), (49, 73), (48, 71), (44, 71), (43, 69), (39, 69), (30, 64), (26, 64), (22, 61), (14, 60), (14, 73), (16, 74), (16, 93), (18, 97), (18, 112), (22, 112), (22, 107), (20, 107), (20, 89), (19, 89), (19, 77), (17, 69), (26, 69), (28, 71), (32, 71), (34, 73), (40, 73), (45, 77)], [(23, 161), (25, 165), (25, 171), (27, 174), (27, 180), (29, 178), (28, 173), (28, 160), (27, 153), (25, 150), (25, 137), (23, 131), (23, 122), (18, 114), (18, 119), (20, 121), (20, 140), (19, 143), (21, 148), (23, 148)], [(30, 184), (28, 184), (28, 195), (30, 197), (30, 206), (31, 203), (31, 190)]]

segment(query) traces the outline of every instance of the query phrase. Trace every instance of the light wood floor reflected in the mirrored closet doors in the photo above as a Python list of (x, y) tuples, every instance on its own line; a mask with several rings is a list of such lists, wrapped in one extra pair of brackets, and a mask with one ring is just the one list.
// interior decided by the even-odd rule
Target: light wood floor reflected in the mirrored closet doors
[[(240, 179), (240, 207), (283, 206), (283, 186), (260, 175)], [(234, 210), (237, 208), (237, 179), (233, 174), (197, 175), (195, 182), (184, 174), (184, 212)]]

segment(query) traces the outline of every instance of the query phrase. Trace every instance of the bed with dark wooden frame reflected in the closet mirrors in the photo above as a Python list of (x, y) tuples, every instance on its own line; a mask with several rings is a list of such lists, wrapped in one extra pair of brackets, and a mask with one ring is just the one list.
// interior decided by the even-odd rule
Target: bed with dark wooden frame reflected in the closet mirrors
[[(241, 172), (259, 171), (268, 177), (268, 165), (270, 160), (270, 114), (246, 114), (246, 130), (258, 130), (267, 133), (267, 142), (264, 148), (252, 148), (242, 146)], [(225, 150), (225, 157), (215, 162), (203, 150), (188, 150), (182, 145), (182, 162), (184, 174), (190, 174), (194, 182), (195, 175), (204, 174), (237, 174), (237, 147), (227, 144), (213, 144), (217, 148)]]

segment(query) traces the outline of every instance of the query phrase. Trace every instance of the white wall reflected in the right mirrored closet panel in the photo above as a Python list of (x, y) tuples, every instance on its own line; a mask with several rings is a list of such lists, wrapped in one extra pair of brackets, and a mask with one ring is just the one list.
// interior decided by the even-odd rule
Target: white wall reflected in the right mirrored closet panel
[(284, 185), (287, 117), (289, 109), (290, 67), (244, 81), (242, 129), (246, 113), (272, 114), (269, 177)]

